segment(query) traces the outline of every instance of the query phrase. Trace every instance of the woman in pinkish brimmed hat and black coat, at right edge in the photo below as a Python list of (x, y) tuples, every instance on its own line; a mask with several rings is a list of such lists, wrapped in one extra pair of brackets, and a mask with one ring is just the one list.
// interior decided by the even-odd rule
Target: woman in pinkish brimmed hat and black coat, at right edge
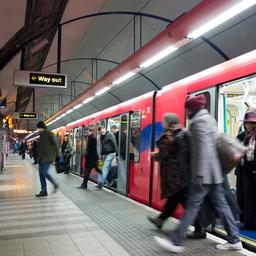
[(237, 199), (241, 208), (241, 222), (244, 229), (256, 229), (256, 110), (244, 116), (245, 131), (237, 138), (249, 148), (236, 169)]

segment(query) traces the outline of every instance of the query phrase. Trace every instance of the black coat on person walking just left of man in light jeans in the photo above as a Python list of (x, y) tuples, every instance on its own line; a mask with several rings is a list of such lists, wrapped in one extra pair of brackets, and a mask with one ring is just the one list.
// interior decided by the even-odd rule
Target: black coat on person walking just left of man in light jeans
[(97, 139), (93, 134), (88, 136), (85, 157), (85, 167), (94, 168), (97, 166), (97, 161), (99, 159), (97, 152)]

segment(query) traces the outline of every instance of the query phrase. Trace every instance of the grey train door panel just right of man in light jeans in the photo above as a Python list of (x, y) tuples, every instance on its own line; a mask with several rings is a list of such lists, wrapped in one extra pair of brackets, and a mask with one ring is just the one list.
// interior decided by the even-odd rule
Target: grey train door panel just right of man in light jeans
[(129, 176), (129, 114), (120, 116), (119, 143), (118, 143), (118, 176), (117, 191), (120, 194), (128, 194)]

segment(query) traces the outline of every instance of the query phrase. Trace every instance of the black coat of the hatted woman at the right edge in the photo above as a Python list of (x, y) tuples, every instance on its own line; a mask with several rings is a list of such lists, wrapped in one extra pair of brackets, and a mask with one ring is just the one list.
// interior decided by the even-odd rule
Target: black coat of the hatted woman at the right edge
[[(240, 133), (237, 138), (245, 146), (249, 144), (246, 133)], [(246, 225), (256, 225), (256, 147), (254, 150), (254, 161), (248, 161), (244, 157), (244, 164), (236, 169), (237, 175), (237, 200), (241, 208), (241, 221)]]

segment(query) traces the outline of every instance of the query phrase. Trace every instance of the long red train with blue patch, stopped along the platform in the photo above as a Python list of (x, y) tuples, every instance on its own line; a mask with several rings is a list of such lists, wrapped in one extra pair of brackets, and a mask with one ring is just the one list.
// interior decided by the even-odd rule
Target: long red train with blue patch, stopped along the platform
[[(256, 50), (204, 70), (162, 90), (149, 92), (117, 106), (56, 129), (61, 136), (69, 132), (73, 138), (76, 155), (73, 171), (83, 175), (85, 152), (84, 126), (104, 125), (109, 130), (113, 124), (120, 127), (125, 140), (125, 156), (118, 162), (117, 191), (136, 201), (160, 209), (159, 166), (150, 158), (155, 141), (161, 133), (161, 119), (166, 112), (175, 112), (186, 126), (184, 103), (188, 95), (205, 94), (208, 109), (218, 120), (219, 128), (235, 136), (248, 107), (256, 106)], [(120, 132), (120, 134), (121, 134)], [(99, 135), (97, 135), (99, 136)], [(122, 145), (125, 144), (125, 145)], [(95, 179), (95, 173), (91, 177)], [(229, 177), (235, 184), (235, 176)], [(182, 209), (180, 209), (182, 210)], [(178, 211), (176, 216), (179, 216)]]

